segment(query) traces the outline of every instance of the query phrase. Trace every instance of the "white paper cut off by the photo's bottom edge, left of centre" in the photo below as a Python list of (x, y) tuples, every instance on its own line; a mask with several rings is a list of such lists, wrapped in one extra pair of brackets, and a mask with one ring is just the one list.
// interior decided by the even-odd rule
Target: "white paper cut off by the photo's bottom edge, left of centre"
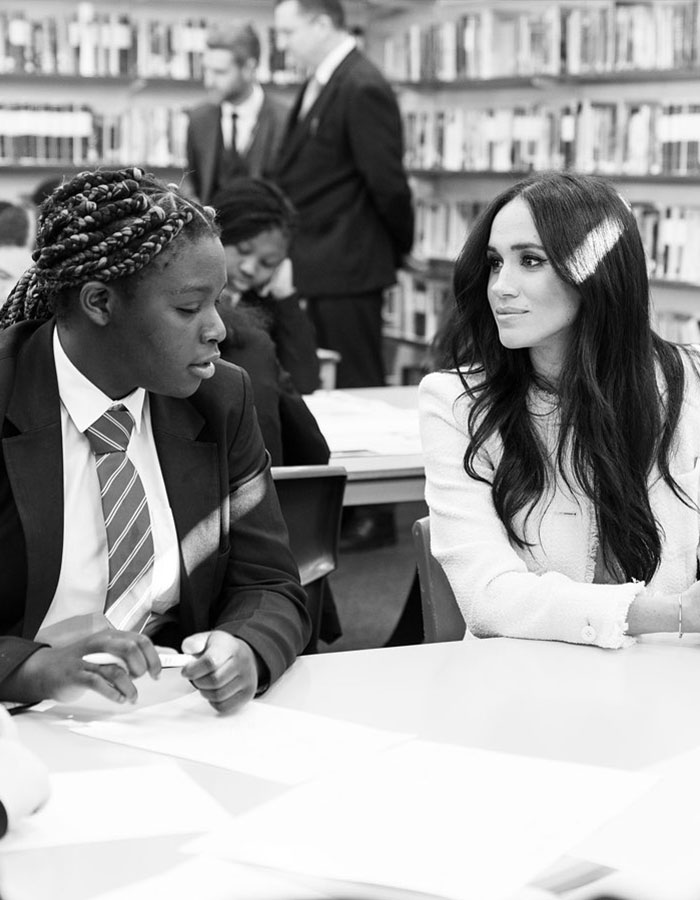
[(316, 900), (327, 897), (301, 889), (297, 880), (275, 872), (194, 857), (152, 878), (124, 885), (93, 900)]

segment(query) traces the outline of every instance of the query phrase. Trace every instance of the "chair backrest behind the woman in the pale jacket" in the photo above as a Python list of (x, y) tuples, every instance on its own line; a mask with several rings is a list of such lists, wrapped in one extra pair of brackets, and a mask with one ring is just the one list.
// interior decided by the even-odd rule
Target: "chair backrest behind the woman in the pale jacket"
[(465, 636), (464, 618), (442, 566), (430, 552), (430, 519), (413, 523), (413, 545), (418, 564), (426, 644), (460, 641)]

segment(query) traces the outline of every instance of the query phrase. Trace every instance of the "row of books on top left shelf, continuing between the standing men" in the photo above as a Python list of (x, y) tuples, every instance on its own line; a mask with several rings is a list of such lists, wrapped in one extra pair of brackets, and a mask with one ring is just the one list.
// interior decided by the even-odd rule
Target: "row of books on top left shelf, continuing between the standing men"
[[(78, 3), (70, 13), (0, 11), (0, 74), (172, 78), (200, 81), (209, 23), (162, 21)], [(274, 31), (260, 34), (262, 80), (298, 79)]]

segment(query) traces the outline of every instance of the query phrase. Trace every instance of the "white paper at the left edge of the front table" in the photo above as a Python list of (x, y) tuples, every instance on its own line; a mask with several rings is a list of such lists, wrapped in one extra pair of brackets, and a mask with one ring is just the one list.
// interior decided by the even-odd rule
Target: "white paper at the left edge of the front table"
[(46, 805), (5, 835), (0, 856), (37, 847), (193, 835), (230, 821), (175, 763), (56, 772)]

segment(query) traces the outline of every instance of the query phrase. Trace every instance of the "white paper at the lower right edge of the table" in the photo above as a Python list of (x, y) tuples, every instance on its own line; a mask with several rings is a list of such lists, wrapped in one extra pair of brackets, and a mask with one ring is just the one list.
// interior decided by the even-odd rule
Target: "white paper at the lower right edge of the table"
[(645, 771), (657, 776), (654, 787), (572, 854), (625, 872), (694, 879), (700, 896), (700, 748)]

